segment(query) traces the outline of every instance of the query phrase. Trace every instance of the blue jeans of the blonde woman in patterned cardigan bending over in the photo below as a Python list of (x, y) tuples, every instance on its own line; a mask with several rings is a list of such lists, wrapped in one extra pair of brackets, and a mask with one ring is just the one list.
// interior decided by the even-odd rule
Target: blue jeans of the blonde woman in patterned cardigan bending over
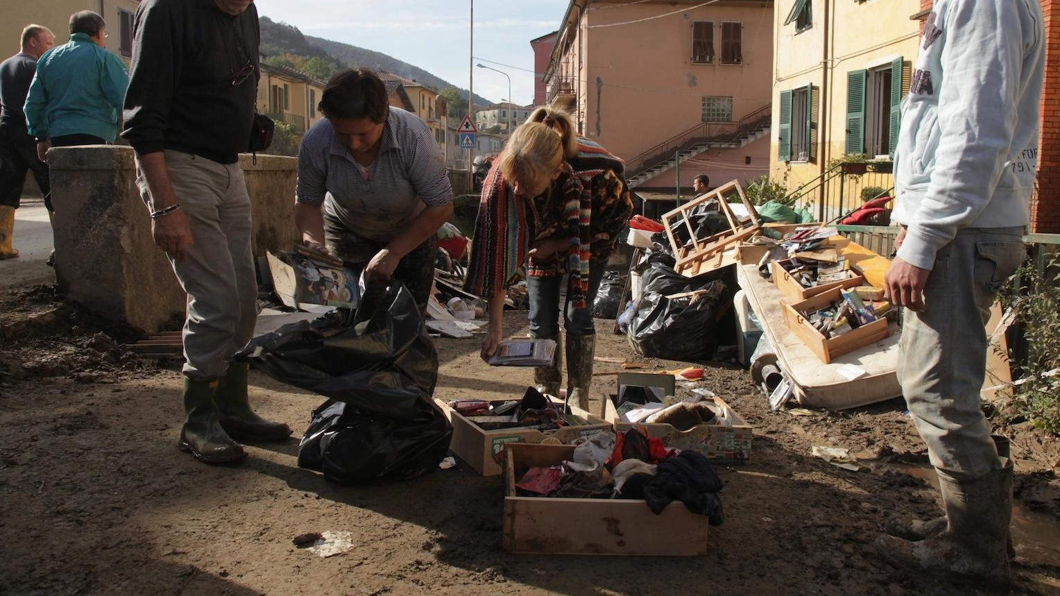
[[(603, 279), (607, 263), (589, 263), (589, 287), (585, 295), (585, 308), (576, 309), (567, 296), (564, 304), (563, 328), (571, 335), (593, 335), (593, 302), (596, 300), (600, 280)], [(560, 290), (566, 283), (566, 276), (528, 277), (527, 293), (530, 298), (530, 336), (555, 337), (560, 335)]]

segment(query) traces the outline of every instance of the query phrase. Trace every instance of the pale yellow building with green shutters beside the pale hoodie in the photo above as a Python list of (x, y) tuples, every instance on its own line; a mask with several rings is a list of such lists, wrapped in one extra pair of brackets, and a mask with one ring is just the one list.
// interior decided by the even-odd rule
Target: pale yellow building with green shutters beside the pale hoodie
[[(849, 211), (868, 186), (888, 190), (900, 103), (920, 34), (919, 0), (777, 0), (774, 4), (770, 177), (805, 201)], [(879, 161), (848, 168), (849, 159)], [(837, 177), (838, 176), (838, 177)], [(842, 190), (840, 179), (842, 178)]]

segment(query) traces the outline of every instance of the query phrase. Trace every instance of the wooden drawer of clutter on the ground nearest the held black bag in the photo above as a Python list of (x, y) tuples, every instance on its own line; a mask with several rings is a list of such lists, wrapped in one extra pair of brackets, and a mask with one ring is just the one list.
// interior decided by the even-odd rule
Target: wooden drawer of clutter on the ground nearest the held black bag
[[(490, 400), (487, 400), (490, 401)], [(508, 402), (512, 400), (492, 400)], [(435, 398), (435, 402), (453, 424), (453, 440), (449, 449), (482, 476), (500, 474), (497, 456), (504, 451), (506, 443), (524, 442), (540, 443), (548, 437), (555, 437), (564, 443), (572, 442), (581, 437), (591, 437), (601, 431), (611, 431), (611, 424), (578, 406), (570, 406), (570, 411), (585, 422), (577, 426), (561, 426), (553, 431), (537, 431), (534, 428), (498, 428), (483, 431), (459, 411), (445, 405), (445, 402)], [(556, 402), (562, 404), (563, 402)]]

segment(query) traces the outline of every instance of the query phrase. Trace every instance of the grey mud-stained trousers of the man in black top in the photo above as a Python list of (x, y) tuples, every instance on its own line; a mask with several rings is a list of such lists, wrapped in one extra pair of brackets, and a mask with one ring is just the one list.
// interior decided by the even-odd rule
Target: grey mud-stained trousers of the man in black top
[[(238, 163), (224, 165), (176, 151), (165, 151), (165, 169), (193, 242), (187, 259), (170, 259), (188, 293), (183, 373), (219, 379), (232, 355), (253, 336), (258, 318), (247, 185)], [(137, 183), (154, 210), (142, 173)]]

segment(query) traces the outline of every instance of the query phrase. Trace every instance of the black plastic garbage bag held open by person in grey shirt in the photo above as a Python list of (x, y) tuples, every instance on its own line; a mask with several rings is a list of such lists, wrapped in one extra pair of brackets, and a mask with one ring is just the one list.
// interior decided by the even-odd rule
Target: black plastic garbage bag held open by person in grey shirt
[[(364, 319), (364, 320), (361, 320)], [(438, 353), (400, 282), (336, 312), (281, 327), (241, 353), (278, 381), (331, 398), (313, 413), (298, 464), (352, 484), (438, 469), (453, 430), (431, 403)]]

